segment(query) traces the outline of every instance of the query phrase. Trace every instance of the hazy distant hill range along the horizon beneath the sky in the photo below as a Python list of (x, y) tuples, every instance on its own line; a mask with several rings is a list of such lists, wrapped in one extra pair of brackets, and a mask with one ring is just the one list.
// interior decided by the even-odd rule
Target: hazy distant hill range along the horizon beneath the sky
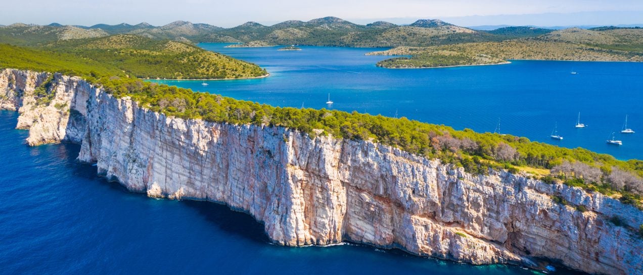
[[(498, 28), (495, 28), (498, 27)], [(284, 21), (272, 26), (246, 22), (233, 28), (210, 24), (175, 21), (163, 26), (140, 24), (96, 24), (93, 26), (47, 26), (16, 23), (0, 27), (0, 42), (38, 46), (55, 40), (85, 39), (116, 34), (134, 34), (149, 39), (180, 42), (253, 42), (256, 44), (303, 44), (316, 46), (435, 46), (461, 42), (486, 42), (538, 37), (554, 28), (535, 26), (476, 26), (464, 28), (437, 19), (419, 19), (412, 24), (397, 25), (377, 21), (361, 25), (338, 17), (311, 21)]]

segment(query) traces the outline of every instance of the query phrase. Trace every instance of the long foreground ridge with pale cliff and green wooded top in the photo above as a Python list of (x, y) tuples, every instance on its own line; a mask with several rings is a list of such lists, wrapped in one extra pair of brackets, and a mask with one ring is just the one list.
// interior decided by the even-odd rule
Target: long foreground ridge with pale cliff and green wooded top
[(640, 160), (406, 118), (271, 107), (145, 82), (123, 73), (133, 70), (127, 62), (0, 49), (0, 109), (20, 113), (29, 145), (80, 144), (78, 160), (110, 181), (149, 197), (224, 203), (262, 222), (275, 244), (643, 270)]

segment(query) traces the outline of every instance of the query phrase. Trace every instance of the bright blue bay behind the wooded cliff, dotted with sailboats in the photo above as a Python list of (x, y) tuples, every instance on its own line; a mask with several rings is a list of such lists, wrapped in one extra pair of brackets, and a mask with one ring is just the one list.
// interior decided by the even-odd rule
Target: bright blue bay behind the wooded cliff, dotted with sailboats
[[(514, 60), (512, 64), (440, 69), (385, 69), (380, 49), (302, 46), (302, 51), (223, 48), (271, 73), (252, 80), (161, 82), (277, 106), (331, 108), (525, 136), (569, 148), (584, 147), (619, 159), (643, 159), (643, 63)], [(577, 75), (570, 72), (575, 71)], [(335, 103), (326, 105), (328, 94)], [(578, 112), (581, 123), (574, 127)], [(628, 128), (620, 134), (626, 114)], [(562, 141), (549, 136), (558, 124)], [(616, 132), (622, 146), (607, 145)]]

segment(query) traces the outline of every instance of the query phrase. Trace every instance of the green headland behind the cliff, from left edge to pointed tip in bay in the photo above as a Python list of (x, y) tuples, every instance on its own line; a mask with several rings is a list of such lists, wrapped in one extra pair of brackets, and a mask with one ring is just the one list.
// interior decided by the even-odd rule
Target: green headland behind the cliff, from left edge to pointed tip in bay
[[(38, 57), (38, 58), (35, 58)], [(71, 69), (73, 75), (129, 75), (138, 78), (203, 79), (249, 78), (266, 75), (255, 64), (206, 51), (191, 44), (172, 40), (152, 40), (136, 35), (113, 35), (94, 39), (54, 42), (41, 48), (3, 45), (0, 64), (21, 64), (32, 60), (40, 71)], [(87, 66), (71, 66), (66, 60), (82, 58)], [(62, 62), (62, 63), (61, 63)], [(78, 63), (78, 62), (77, 62)], [(100, 68), (100, 69), (98, 69)], [(97, 70), (98, 69), (98, 70)], [(116, 73), (118, 72), (118, 73)]]

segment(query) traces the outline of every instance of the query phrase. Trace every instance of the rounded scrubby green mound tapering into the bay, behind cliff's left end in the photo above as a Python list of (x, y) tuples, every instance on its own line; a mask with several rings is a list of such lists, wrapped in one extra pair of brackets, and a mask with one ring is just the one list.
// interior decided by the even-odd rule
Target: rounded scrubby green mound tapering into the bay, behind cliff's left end
[(138, 78), (248, 78), (267, 74), (255, 64), (191, 44), (137, 35), (55, 42), (46, 50), (96, 60)]

